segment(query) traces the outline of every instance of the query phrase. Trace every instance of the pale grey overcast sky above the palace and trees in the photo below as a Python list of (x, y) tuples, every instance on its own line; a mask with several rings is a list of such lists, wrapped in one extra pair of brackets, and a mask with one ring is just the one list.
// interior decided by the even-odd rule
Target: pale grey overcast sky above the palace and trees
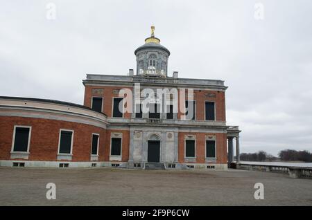
[(83, 104), (85, 75), (135, 68), (151, 25), (171, 51), (168, 75), (225, 80), (241, 152), (312, 152), (310, 0), (0, 0), (0, 95)]

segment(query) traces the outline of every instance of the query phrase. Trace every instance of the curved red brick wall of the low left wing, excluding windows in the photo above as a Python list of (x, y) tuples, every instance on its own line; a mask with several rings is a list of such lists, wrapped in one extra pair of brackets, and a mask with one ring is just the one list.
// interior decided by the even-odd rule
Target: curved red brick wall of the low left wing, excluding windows
[(100, 135), (99, 160), (104, 161), (106, 130), (61, 120), (0, 116), (0, 160), (10, 160), (15, 125), (31, 126), (29, 161), (57, 161), (60, 129), (73, 130), (71, 161), (90, 161), (92, 133)]

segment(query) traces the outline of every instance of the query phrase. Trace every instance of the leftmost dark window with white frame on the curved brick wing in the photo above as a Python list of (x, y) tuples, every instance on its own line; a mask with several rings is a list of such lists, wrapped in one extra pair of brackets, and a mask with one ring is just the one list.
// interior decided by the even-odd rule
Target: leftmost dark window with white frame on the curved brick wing
[(15, 127), (13, 152), (28, 152), (31, 140), (31, 127)]

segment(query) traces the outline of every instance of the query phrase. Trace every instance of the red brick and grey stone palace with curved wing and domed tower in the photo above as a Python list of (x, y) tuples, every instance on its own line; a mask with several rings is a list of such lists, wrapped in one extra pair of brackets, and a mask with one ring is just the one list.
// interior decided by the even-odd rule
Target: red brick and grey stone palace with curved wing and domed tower
[(239, 162), (224, 82), (169, 75), (153, 26), (135, 56), (128, 74), (87, 74), (83, 105), (0, 97), (0, 166), (227, 169), (234, 142)]

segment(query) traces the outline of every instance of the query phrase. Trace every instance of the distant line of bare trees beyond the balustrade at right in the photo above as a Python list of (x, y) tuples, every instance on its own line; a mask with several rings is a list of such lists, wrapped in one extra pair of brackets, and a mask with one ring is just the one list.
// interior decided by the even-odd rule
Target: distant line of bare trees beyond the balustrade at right
[(284, 149), (279, 152), (279, 157), (272, 156), (267, 152), (240, 154), (241, 161), (303, 161), (312, 162), (312, 153), (308, 151), (296, 151), (295, 149)]

